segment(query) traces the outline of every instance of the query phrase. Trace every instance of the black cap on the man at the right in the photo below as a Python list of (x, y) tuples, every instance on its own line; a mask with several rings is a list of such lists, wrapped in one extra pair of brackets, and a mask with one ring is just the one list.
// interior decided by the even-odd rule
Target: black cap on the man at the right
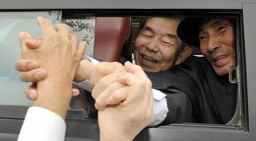
[(195, 47), (200, 47), (198, 38), (198, 28), (200, 21), (204, 18), (185, 18), (177, 28), (177, 34), (183, 42), (187, 42)]

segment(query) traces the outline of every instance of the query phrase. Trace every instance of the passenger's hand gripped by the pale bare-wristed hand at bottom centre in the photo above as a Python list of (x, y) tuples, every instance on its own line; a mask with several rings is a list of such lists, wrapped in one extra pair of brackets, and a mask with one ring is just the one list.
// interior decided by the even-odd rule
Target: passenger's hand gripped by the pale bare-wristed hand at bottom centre
[[(125, 87), (117, 79), (127, 73), (126, 69), (121, 63), (118, 62), (100, 62), (96, 66), (87, 66), (83, 62), (88, 62), (86, 60), (81, 61), (80, 66), (83, 68), (85, 75), (89, 78), (92, 87), (92, 97), (95, 99), (95, 108), (98, 110), (103, 110), (108, 103), (106, 103), (106, 98), (109, 97), (110, 93), (102, 94), (106, 89), (111, 88), (114, 92), (116, 89)], [(91, 64), (91, 63), (90, 63)], [(88, 71), (88, 68), (93, 68), (92, 71)], [(111, 87), (112, 84), (115, 87)], [(102, 85), (103, 84), (103, 85)], [(109, 101), (111, 104), (119, 103), (120, 101)]]

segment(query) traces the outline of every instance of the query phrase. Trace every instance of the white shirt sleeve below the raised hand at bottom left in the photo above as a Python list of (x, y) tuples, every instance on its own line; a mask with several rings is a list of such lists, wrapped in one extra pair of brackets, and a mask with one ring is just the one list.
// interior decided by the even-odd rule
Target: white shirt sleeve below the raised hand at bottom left
[(45, 108), (28, 108), (18, 141), (64, 141), (66, 124), (56, 113)]

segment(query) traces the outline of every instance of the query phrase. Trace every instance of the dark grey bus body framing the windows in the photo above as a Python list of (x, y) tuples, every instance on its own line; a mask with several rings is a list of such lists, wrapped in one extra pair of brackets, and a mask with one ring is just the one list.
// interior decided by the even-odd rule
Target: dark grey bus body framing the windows
[[(255, 0), (5, 0), (0, 12), (62, 10), (64, 16), (235, 16), (237, 67), (242, 126), (171, 124), (145, 128), (136, 141), (253, 141), (256, 140), (256, 1)], [(1, 23), (0, 23), (1, 24)], [(0, 37), (1, 38), (1, 37)], [(1, 57), (1, 56), (0, 56)], [(24, 91), (23, 91), (24, 92)], [(16, 141), (28, 106), (0, 105), (0, 140)], [(97, 141), (95, 119), (68, 112), (65, 141)]]

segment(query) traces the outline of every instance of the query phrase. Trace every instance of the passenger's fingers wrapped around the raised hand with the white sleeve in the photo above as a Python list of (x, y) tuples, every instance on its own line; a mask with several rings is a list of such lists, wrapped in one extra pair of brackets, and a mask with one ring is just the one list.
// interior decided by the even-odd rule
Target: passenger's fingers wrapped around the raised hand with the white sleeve
[[(28, 39), (24, 43), (28, 49), (37, 49), (42, 44), (42, 38), (28, 37)], [(30, 59), (19, 59), (15, 63), (15, 69), (17, 71), (21, 71), (19, 75), (21, 81), (32, 82), (32, 84), (25, 89), (25, 94), (28, 99), (36, 100), (38, 96), (38, 93), (36, 91), (36, 82), (45, 79), (47, 77), (47, 72), (44, 69), (39, 68), (39, 63), (37, 61)], [(85, 78), (83, 71), (81, 71), (81, 68), (78, 66), (73, 81), (82, 82), (85, 80), (87, 80), (87, 78)], [(78, 89), (72, 89), (72, 96), (77, 96), (78, 94)]]

